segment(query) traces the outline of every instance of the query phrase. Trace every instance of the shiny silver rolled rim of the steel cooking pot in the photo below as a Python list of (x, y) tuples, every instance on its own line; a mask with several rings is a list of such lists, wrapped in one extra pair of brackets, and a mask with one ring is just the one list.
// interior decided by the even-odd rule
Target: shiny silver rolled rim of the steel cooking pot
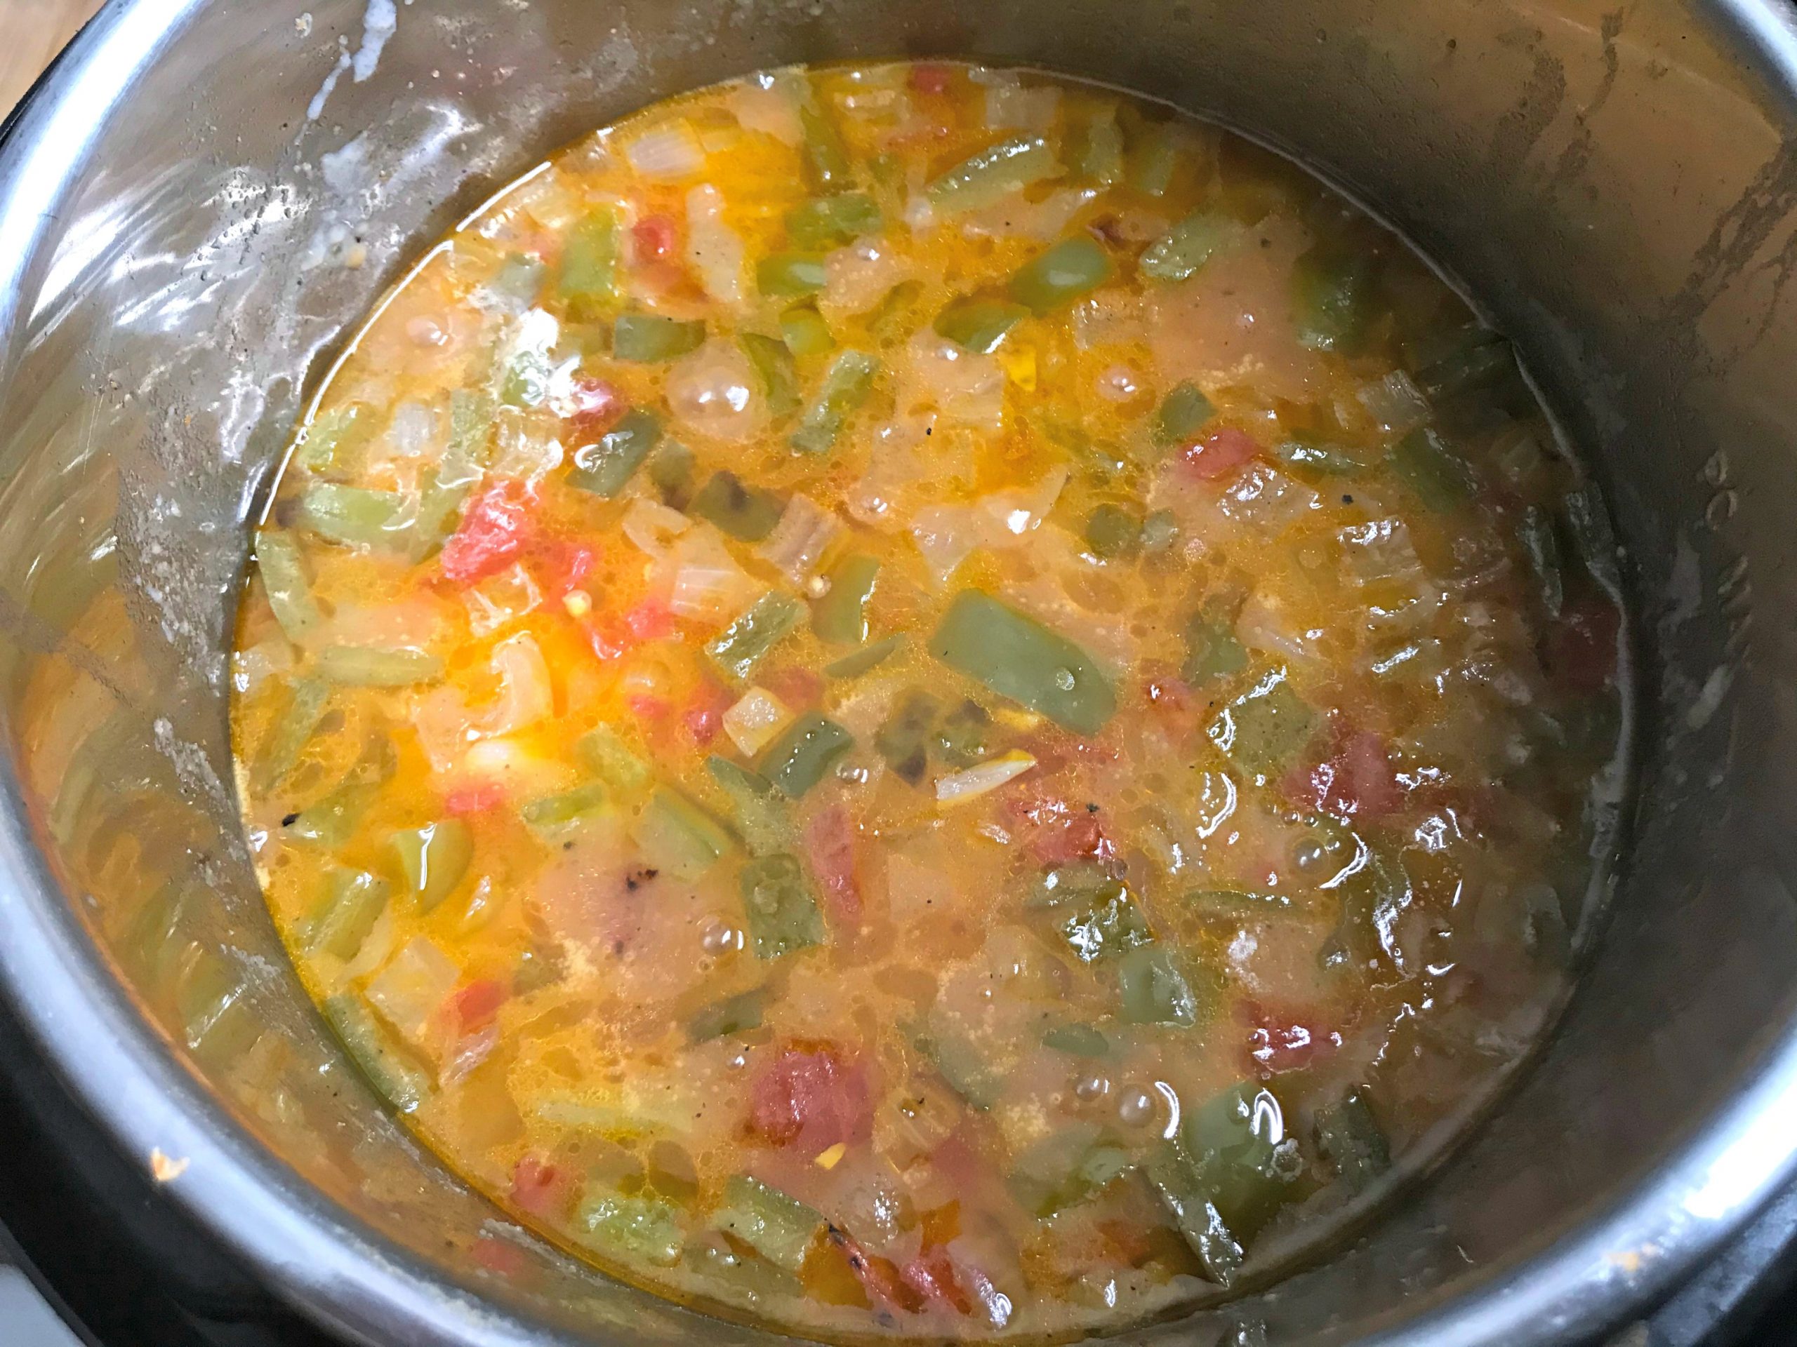
[[(0, 332), (41, 224), (74, 185), (135, 75), (208, 0), (113, 0), (0, 124)], [(1797, 11), (1709, 0), (1718, 27), (1797, 92)], [(1793, 95), (1797, 97), (1797, 95)], [(11, 379), (11, 361), (4, 377)], [(146, 1166), (185, 1160), (171, 1196), (284, 1300), (352, 1340), (501, 1347), (579, 1343), (446, 1279), (307, 1185), (225, 1115), (131, 1004), (41, 855), (16, 765), (0, 763), (0, 995), (111, 1140)], [(56, 1047), (63, 1043), (63, 1047)], [(1797, 1178), (1797, 1026), (1770, 1034), (1738, 1088), (1657, 1167), (1556, 1243), (1407, 1324), (1380, 1347), (1511, 1347), (1623, 1327)], [(1439, 1295), (1439, 1293), (1438, 1293)]]

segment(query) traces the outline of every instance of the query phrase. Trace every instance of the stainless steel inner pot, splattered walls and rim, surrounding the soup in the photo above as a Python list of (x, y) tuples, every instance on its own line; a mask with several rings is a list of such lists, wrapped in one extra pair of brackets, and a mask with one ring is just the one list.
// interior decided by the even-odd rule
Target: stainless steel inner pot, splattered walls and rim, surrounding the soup
[(1770, 0), (110, 5), (0, 145), (4, 993), (124, 1151), (352, 1338), (769, 1342), (570, 1264), (381, 1114), (235, 837), (225, 652), (302, 386), (415, 248), (649, 99), (863, 54), (1111, 81), (1335, 178), (1517, 338), (1628, 548), (1635, 841), (1553, 1043), (1355, 1246), (1136, 1338), (1624, 1324), (1797, 1173), (1797, 31)]

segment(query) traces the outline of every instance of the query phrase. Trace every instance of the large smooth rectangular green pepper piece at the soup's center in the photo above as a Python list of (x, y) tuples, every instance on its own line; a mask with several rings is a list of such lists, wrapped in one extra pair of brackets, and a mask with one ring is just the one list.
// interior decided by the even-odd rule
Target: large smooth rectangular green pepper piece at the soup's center
[(929, 654), (1080, 735), (1096, 735), (1118, 709), (1116, 691), (1091, 656), (978, 589), (954, 596)]

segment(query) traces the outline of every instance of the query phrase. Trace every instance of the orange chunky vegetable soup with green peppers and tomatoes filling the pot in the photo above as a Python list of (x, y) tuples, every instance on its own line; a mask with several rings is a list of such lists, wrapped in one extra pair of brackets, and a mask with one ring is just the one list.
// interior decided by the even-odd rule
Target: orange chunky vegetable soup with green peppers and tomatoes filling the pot
[(1287, 162), (961, 65), (527, 174), (255, 544), (244, 821), (412, 1128), (814, 1336), (1066, 1336), (1377, 1203), (1527, 1052), (1616, 785), (1607, 512)]

